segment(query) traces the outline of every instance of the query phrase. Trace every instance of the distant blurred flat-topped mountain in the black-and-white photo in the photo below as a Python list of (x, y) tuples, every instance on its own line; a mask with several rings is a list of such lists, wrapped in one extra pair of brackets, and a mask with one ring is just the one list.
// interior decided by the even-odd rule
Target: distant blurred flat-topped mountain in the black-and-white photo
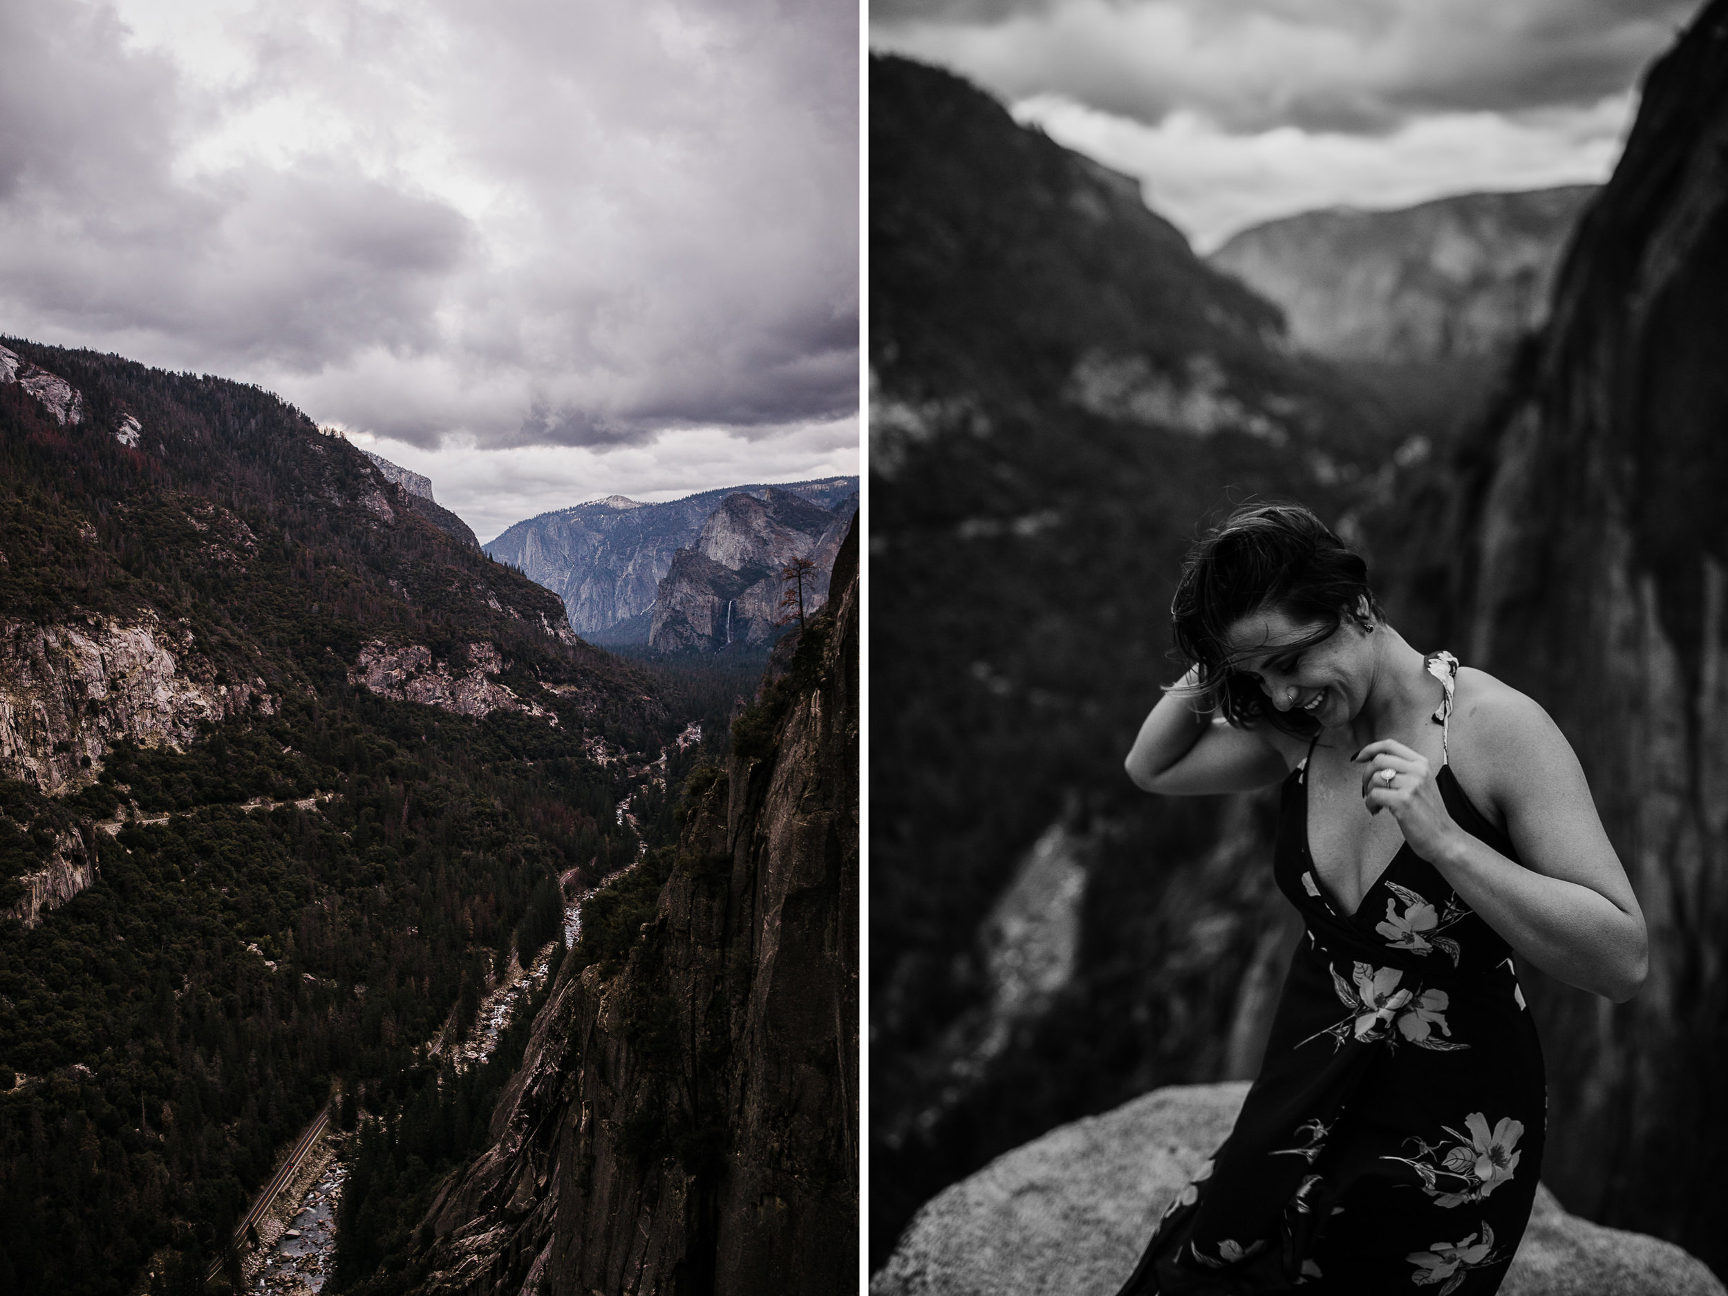
[(1490, 356), (1541, 325), (1560, 254), (1595, 192), (1310, 211), (1244, 230), (1208, 259), (1277, 302), (1291, 342), (1327, 359)]

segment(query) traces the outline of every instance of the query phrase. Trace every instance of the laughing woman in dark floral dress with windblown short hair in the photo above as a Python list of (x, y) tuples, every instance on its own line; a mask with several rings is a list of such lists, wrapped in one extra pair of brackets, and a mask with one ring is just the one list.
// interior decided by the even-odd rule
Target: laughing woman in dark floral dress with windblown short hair
[(1191, 664), (1130, 778), (1282, 781), (1274, 874), (1306, 924), (1236, 1128), (1123, 1296), (1491, 1293), (1541, 1166), (1541, 1051), (1512, 954), (1616, 1002), (1643, 916), (1534, 702), (1422, 655), (1313, 513), (1237, 510), (1172, 605)]

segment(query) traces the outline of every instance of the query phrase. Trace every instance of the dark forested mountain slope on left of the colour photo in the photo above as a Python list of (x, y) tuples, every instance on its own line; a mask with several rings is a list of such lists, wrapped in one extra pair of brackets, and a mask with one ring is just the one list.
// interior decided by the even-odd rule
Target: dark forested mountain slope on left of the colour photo
[(275, 396), (3, 347), (0, 1289), (176, 1289), (334, 1078), (465, 1154), (501, 1077), (415, 1047), (700, 748)]

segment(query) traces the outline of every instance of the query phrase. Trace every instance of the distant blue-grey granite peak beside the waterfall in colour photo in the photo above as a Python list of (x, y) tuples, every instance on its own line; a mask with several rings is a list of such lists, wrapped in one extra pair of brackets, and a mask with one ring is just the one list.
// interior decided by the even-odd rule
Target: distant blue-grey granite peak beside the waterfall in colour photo
[(814, 563), (804, 582), (804, 610), (821, 608), (828, 569), (855, 513), (855, 494), (833, 511), (776, 487), (760, 498), (726, 496), (702, 524), (695, 548), (672, 556), (655, 594), (648, 646), (688, 651), (771, 641), (788, 619), (779, 605), (786, 589), (781, 569), (795, 558)]

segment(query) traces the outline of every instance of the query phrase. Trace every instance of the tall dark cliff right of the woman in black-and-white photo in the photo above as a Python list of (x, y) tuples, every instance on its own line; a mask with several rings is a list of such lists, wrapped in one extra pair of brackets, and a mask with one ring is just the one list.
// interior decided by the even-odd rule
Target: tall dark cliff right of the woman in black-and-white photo
[(1548, 1182), (1728, 1272), (1728, 2), (1650, 71), (1550, 323), (1436, 506), (1415, 584), (1571, 738), (1650, 930), (1610, 1006), (1526, 983)]

